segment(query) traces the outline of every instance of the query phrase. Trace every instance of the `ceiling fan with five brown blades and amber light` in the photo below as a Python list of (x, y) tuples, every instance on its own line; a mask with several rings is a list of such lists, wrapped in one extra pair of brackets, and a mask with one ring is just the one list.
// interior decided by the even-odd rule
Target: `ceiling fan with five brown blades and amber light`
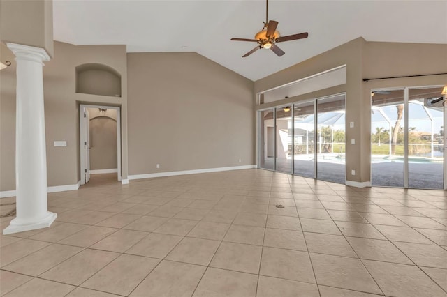
[(297, 40), (302, 38), (307, 38), (309, 36), (309, 33), (298, 33), (288, 36), (281, 36), (279, 32), (277, 31), (278, 22), (274, 20), (268, 21), (268, 0), (266, 0), (266, 8), (265, 8), (265, 22), (263, 29), (256, 33), (254, 36), (254, 39), (248, 39), (248, 38), (231, 38), (231, 40), (234, 41), (251, 41), (254, 43), (258, 43), (258, 45), (251, 50), (250, 52), (247, 52), (247, 54), (244, 54), (242, 58), (245, 58), (246, 56), (249, 56), (256, 52), (259, 49), (270, 49), (272, 52), (277, 54), (277, 56), (282, 56), (285, 54), (283, 50), (281, 50), (277, 43), (283, 43), (284, 41), (290, 41), (290, 40)]

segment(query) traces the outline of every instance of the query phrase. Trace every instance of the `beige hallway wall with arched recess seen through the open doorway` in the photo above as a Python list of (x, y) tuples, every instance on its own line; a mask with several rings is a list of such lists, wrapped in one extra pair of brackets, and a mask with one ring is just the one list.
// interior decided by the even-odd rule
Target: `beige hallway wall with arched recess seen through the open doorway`
[(117, 111), (89, 108), (90, 169), (117, 168)]

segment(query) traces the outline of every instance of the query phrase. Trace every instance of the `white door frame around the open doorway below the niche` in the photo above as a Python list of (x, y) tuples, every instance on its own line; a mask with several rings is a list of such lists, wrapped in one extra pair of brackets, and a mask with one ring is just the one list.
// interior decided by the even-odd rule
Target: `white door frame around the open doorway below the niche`
[(79, 105), (79, 144), (80, 144), (80, 185), (85, 185), (85, 170), (87, 166), (85, 164), (85, 151), (84, 143), (86, 141), (86, 135), (83, 132), (85, 130), (84, 115), (87, 108), (106, 108), (115, 109), (117, 111), (117, 181), (122, 180), (122, 155), (121, 155), (121, 107), (109, 106), (109, 105)]

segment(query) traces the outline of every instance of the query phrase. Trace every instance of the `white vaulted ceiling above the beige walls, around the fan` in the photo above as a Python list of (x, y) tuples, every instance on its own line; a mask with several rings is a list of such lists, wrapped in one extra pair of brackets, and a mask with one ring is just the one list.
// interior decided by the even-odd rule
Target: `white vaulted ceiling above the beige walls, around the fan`
[(127, 45), (128, 52), (198, 52), (252, 80), (362, 36), (369, 41), (447, 43), (447, 1), (269, 1), (281, 35), (309, 38), (242, 55), (256, 43), (265, 1), (54, 0), (54, 40)]

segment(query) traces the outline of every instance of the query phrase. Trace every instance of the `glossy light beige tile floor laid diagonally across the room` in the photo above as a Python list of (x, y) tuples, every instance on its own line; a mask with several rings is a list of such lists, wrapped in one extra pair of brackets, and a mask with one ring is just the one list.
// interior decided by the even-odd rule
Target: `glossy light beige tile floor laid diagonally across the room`
[(247, 169), (95, 175), (48, 204), (50, 228), (0, 236), (1, 296), (447, 296), (446, 191)]

